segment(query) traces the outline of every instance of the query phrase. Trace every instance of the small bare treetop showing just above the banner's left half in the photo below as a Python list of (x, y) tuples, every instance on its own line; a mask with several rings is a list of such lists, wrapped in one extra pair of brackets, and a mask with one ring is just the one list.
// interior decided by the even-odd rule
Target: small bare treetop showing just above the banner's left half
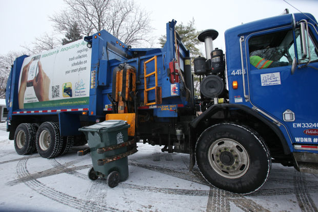
[(48, 34), (47, 32), (43, 36), (35, 37), (35, 41), (31, 45), (22, 46), (28, 54), (38, 54), (42, 51), (54, 49), (61, 45), (61, 41), (58, 40), (57, 36), (53, 33)]

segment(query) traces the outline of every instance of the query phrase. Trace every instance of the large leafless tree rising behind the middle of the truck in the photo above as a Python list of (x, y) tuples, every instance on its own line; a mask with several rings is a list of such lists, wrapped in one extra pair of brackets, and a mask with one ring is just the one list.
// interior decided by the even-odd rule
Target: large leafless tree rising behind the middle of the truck
[(149, 13), (132, 0), (64, 1), (68, 7), (50, 17), (55, 29), (62, 34), (77, 23), (85, 36), (105, 29), (130, 45), (151, 40)]

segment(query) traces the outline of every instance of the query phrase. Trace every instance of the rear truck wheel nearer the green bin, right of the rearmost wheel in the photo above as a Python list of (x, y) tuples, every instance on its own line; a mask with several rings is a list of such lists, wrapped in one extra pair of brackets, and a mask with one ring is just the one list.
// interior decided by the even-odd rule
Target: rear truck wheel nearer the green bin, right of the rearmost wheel
[(63, 140), (59, 137), (58, 125), (54, 122), (44, 122), (36, 133), (36, 149), (43, 158), (54, 158), (61, 153)]

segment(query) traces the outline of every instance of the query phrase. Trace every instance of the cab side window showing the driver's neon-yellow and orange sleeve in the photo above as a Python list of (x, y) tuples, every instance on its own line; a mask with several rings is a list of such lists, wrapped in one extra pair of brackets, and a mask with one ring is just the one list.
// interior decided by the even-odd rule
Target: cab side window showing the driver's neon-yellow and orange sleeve
[(253, 36), (248, 48), (252, 69), (288, 66), (295, 56), (292, 30)]

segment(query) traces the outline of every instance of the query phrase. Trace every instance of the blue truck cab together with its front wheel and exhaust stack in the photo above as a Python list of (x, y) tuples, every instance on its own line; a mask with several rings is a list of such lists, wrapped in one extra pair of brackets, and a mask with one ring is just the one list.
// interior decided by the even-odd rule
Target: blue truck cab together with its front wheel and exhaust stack
[[(213, 31), (199, 35), (200, 40), (205, 33), (201, 40), (206, 49), (207, 38), (216, 38)], [(193, 128), (204, 129), (195, 147), (202, 174), (218, 188), (248, 194), (266, 181), (271, 162), (317, 173), (318, 33), (314, 17), (284, 14), (243, 24), (228, 29), (225, 42), (227, 80), (223, 81), (228, 97), (220, 104), (224, 94), (220, 98), (213, 93), (222, 88), (210, 75), (222, 74), (213, 72), (212, 63), (222, 60), (215, 56), (216, 49), (208, 50), (205, 65), (209, 70), (201, 84), (204, 111), (191, 122)], [(196, 67), (194, 72), (202, 73)], [(208, 77), (210, 82), (204, 82)], [(248, 145), (253, 148), (249, 150)], [(250, 180), (252, 176), (257, 179)]]

